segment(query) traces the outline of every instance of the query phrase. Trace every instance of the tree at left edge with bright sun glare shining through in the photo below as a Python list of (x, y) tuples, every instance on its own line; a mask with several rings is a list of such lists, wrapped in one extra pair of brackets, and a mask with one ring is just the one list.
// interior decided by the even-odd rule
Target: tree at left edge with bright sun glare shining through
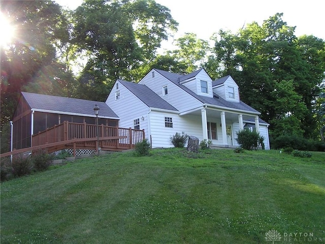
[[(52, 1), (2, 1), (2, 14), (16, 29), (15, 37), (1, 55), (1, 125), (8, 123), (23, 86), (42, 77), (46, 89), (56, 85), (56, 50), (60, 38), (60, 6)], [(40, 79), (39, 79), (40, 80)]]

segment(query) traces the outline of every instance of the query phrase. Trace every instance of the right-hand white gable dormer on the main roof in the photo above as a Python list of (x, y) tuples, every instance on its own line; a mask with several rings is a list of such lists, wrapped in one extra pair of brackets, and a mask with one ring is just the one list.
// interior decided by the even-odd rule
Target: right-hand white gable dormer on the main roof
[(239, 87), (230, 76), (222, 77), (212, 82), (212, 89), (215, 94), (226, 101), (239, 103)]

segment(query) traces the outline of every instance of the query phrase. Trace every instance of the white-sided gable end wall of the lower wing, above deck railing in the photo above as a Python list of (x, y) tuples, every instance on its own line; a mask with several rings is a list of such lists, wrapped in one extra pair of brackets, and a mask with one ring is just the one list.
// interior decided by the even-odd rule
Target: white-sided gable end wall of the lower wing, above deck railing
[[(119, 83), (119, 82), (118, 82)], [(121, 83), (116, 83), (112, 88), (110, 95), (106, 100), (106, 104), (117, 114), (120, 118), (119, 127), (134, 128), (134, 119), (140, 118), (140, 129), (145, 129), (146, 137), (148, 134), (148, 106), (141, 102), (133, 93), (129, 92)], [(115, 92), (120, 91), (120, 98), (115, 100)], [(144, 117), (144, 120), (141, 117)]]

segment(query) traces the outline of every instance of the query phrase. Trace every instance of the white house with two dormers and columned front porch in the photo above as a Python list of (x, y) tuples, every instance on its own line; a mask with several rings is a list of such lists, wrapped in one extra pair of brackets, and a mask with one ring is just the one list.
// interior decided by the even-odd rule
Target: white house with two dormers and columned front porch
[(172, 147), (176, 132), (236, 147), (236, 132), (248, 127), (263, 135), (270, 149), (269, 124), (240, 101), (230, 75), (212, 81), (204, 69), (187, 75), (153, 69), (139, 83), (117, 80), (106, 104), (120, 127), (144, 129), (152, 147)]

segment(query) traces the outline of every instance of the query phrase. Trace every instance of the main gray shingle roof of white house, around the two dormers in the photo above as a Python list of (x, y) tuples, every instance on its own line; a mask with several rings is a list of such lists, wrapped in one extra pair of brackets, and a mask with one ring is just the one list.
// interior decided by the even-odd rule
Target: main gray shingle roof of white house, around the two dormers
[[(154, 69), (154, 70), (157, 71), (159, 74), (163, 75), (164, 77), (166, 77), (167, 79), (169, 79), (170, 81), (172, 81), (174, 84), (178, 85), (180, 88), (185, 90), (185, 92), (187, 92), (188, 94), (190, 94), (191, 96), (198, 99), (199, 101), (201, 101), (204, 104), (259, 113), (257, 110), (255, 110), (254, 108), (250, 107), (249, 105), (245, 104), (242, 101), (240, 101), (239, 103), (235, 103), (235, 102), (226, 101), (223, 98), (221, 98), (220, 96), (219, 96), (219, 98), (214, 98), (214, 97), (209, 98), (209, 97), (197, 95), (196, 93), (192, 92), (192, 90), (188, 89), (186, 86), (179, 83), (179, 80), (182, 80), (182, 77), (184, 75), (174, 74), (171, 72), (157, 70), (157, 69)], [(201, 70), (202, 69), (200, 69), (199, 71), (201, 71)], [(198, 71), (194, 71), (186, 76), (189, 78), (192, 76), (192, 74), (197, 74), (197, 73), (198, 73)], [(226, 80), (226, 78), (228, 78), (228, 77), (229, 76), (222, 77), (222, 78), (218, 79), (219, 81), (218, 80), (217, 81), (221, 82), (224, 79), (223, 80), (223, 82), (224, 82)]]

